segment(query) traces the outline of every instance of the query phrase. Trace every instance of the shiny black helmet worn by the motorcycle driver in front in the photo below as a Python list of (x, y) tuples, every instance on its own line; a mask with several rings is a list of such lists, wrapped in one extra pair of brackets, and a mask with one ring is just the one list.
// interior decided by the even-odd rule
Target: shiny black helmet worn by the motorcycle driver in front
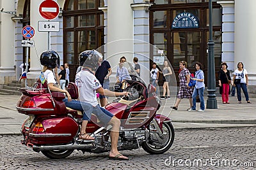
[(99, 58), (103, 58), (102, 54), (96, 50), (86, 50), (79, 55), (79, 64), (84, 67), (91, 67), (95, 70), (98, 66)]

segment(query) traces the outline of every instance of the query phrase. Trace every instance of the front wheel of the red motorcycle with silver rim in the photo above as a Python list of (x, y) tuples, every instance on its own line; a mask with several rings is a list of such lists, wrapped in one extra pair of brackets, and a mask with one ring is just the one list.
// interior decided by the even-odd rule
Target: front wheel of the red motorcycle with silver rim
[(174, 129), (171, 122), (163, 122), (163, 136), (150, 134), (148, 141), (142, 143), (142, 148), (150, 154), (161, 154), (168, 151), (174, 140)]

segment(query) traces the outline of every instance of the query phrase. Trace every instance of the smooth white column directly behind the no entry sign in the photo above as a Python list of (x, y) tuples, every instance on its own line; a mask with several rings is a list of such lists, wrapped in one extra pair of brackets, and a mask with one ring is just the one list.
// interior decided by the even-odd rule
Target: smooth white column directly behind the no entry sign
[(38, 21), (44, 21), (38, 11), (38, 6), (42, 3), (40, 1), (31, 1), (30, 11), (30, 25), (35, 29), (35, 36), (32, 40), (35, 41), (35, 47), (30, 48), (30, 69), (28, 73), (28, 84), (30, 85), (38, 78), (42, 70), (40, 64), (40, 54), (47, 50), (47, 32), (38, 32)]

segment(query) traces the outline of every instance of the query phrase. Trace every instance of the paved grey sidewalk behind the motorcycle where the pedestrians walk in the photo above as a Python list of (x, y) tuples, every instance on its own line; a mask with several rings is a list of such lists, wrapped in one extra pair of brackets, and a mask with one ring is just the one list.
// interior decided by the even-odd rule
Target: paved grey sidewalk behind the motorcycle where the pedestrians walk
[[(0, 134), (20, 134), (20, 127), (28, 116), (18, 113), (15, 108), (19, 97), (0, 95)], [(175, 129), (256, 126), (256, 98), (250, 99), (252, 104), (247, 104), (244, 98), (242, 100), (242, 104), (238, 104), (236, 97), (230, 97), (230, 104), (222, 104), (221, 97), (217, 97), (218, 109), (198, 112), (187, 111), (188, 99), (182, 99), (177, 111), (172, 110), (170, 106), (173, 106), (175, 97), (171, 97), (161, 100), (162, 106), (157, 113), (170, 117)], [(199, 106), (200, 103), (196, 103), (196, 110)]]

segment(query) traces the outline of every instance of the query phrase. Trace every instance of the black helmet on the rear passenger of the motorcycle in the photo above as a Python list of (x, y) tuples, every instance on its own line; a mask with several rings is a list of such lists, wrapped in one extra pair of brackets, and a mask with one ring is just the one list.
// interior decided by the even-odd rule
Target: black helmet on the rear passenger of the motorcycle
[(53, 69), (60, 66), (60, 57), (54, 50), (46, 50), (40, 55), (40, 63)]

